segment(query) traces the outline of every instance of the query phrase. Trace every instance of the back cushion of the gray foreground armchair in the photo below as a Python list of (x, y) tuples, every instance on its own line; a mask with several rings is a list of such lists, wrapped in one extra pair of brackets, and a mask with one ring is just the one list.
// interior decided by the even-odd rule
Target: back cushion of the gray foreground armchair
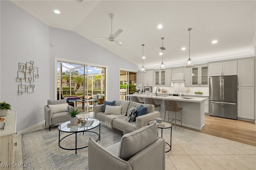
[(156, 123), (125, 134), (120, 141), (118, 156), (129, 160), (132, 156), (152, 144), (157, 139)]

